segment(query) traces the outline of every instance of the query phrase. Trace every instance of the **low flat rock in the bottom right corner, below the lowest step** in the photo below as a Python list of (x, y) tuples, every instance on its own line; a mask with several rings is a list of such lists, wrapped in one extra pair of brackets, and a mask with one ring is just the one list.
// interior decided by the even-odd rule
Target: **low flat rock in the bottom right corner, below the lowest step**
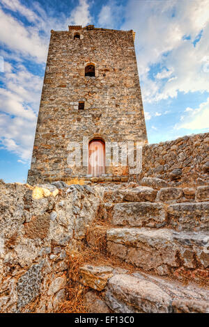
[(173, 300), (172, 308), (174, 313), (209, 313), (209, 303), (206, 301), (184, 298)]

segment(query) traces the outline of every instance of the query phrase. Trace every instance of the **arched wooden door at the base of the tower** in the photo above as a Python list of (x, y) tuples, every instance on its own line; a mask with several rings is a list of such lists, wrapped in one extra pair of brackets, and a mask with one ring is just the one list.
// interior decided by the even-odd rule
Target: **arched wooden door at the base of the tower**
[(88, 144), (88, 174), (98, 177), (105, 174), (105, 144), (92, 140)]

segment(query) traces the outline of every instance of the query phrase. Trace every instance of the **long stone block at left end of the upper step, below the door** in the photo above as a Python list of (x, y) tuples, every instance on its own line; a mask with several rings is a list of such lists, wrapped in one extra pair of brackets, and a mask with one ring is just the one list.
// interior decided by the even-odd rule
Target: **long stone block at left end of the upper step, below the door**
[(104, 191), (104, 202), (155, 202), (157, 191), (147, 186), (134, 189), (108, 189)]

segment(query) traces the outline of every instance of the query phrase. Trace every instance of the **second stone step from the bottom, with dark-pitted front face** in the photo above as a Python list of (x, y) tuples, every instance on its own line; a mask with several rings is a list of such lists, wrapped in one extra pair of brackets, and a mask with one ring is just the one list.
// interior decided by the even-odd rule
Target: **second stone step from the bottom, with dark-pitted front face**
[[(176, 232), (167, 228), (111, 228), (107, 251), (125, 262), (178, 278), (208, 278), (209, 232)], [(202, 276), (202, 277), (201, 277)]]

